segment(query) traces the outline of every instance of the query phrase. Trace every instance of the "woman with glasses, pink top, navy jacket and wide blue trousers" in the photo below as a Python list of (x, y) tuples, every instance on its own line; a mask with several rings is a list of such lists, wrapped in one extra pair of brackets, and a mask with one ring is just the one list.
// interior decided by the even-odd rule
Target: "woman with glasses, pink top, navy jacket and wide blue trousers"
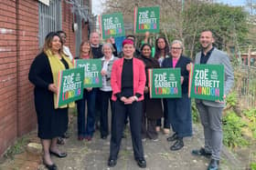
[(188, 71), (189, 58), (182, 55), (183, 45), (179, 40), (171, 44), (171, 57), (165, 58), (162, 67), (180, 68), (181, 75), (181, 98), (167, 98), (168, 117), (174, 134), (167, 138), (168, 142), (174, 142), (170, 147), (172, 151), (181, 149), (184, 146), (183, 137), (192, 135), (191, 100), (188, 98)]

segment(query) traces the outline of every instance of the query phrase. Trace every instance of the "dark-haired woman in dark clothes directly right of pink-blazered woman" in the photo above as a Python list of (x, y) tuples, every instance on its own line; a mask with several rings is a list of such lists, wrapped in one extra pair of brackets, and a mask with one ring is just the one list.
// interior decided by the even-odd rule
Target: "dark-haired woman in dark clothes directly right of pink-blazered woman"
[(142, 125), (142, 137), (143, 139), (149, 138), (157, 141), (157, 132), (155, 129), (157, 119), (163, 115), (163, 108), (161, 99), (150, 98), (148, 88), (148, 69), (159, 68), (158, 61), (151, 57), (152, 47), (151, 45), (144, 44), (141, 47), (141, 56), (139, 59), (144, 61), (146, 84), (144, 87), (144, 114), (143, 114), (143, 125)]

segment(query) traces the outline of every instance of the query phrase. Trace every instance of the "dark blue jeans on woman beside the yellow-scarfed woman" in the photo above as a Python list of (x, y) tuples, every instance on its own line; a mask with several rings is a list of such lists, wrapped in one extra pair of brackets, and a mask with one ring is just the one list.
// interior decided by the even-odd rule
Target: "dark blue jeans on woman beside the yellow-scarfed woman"
[[(95, 99), (96, 91), (92, 88), (91, 91), (84, 89), (82, 99), (77, 101), (78, 108), (78, 135), (80, 137), (92, 136), (94, 133), (95, 124)], [(85, 124), (85, 112), (87, 101), (87, 123)]]

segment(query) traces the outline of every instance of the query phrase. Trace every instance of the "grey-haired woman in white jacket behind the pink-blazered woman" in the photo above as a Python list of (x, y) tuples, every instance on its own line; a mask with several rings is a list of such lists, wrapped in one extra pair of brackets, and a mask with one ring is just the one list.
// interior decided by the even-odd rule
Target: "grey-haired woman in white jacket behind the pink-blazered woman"
[(109, 135), (109, 121), (108, 121), (108, 109), (109, 102), (111, 102), (112, 109), (112, 86), (111, 86), (111, 74), (112, 64), (118, 58), (112, 55), (114, 48), (111, 43), (105, 43), (102, 45), (102, 53), (104, 56), (101, 58), (102, 61), (102, 87), (100, 88), (101, 95), (101, 139), (106, 139)]

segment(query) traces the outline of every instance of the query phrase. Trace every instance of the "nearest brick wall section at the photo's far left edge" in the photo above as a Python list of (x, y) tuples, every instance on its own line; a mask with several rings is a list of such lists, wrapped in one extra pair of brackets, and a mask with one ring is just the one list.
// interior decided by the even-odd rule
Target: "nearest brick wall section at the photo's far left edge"
[(16, 138), (16, 1), (0, 5), (0, 153)]

